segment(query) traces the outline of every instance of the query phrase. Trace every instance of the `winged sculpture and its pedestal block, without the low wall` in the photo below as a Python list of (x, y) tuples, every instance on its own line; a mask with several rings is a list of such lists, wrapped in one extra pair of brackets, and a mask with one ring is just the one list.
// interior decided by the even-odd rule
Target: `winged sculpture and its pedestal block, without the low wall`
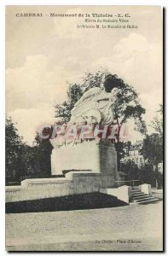
[[(107, 178), (107, 186), (113, 186), (114, 181), (119, 179), (116, 150), (107, 137), (118, 101), (119, 83), (116, 80), (108, 74), (103, 88), (95, 87), (84, 92), (72, 108), (72, 117), (66, 129), (50, 139), (54, 147), (51, 154), (52, 175), (61, 175), (63, 171), (93, 172)], [(60, 124), (63, 125), (61, 120)]]

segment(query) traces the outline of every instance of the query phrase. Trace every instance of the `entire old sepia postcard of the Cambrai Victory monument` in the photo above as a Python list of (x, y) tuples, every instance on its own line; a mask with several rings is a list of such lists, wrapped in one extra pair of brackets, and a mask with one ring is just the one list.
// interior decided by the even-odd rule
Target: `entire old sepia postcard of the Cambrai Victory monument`
[(163, 251), (163, 9), (6, 6), (6, 249)]

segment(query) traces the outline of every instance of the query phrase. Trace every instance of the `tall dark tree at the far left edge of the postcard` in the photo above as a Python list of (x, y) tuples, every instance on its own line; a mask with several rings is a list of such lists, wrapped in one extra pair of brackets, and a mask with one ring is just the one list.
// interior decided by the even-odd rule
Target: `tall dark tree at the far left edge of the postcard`
[(6, 183), (16, 182), (23, 172), (21, 155), (24, 143), (12, 119), (8, 116), (5, 122), (5, 148)]

